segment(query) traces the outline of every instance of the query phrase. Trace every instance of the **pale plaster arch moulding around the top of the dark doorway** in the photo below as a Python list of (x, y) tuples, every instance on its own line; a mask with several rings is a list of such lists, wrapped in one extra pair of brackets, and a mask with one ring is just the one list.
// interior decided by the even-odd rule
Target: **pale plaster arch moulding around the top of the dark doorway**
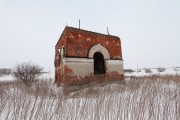
[(88, 58), (93, 59), (94, 54), (96, 52), (100, 52), (103, 55), (104, 59), (110, 59), (110, 54), (109, 54), (108, 50), (104, 46), (102, 46), (101, 44), (94, 45), (90, 49), (89, 54), (88, 54)]

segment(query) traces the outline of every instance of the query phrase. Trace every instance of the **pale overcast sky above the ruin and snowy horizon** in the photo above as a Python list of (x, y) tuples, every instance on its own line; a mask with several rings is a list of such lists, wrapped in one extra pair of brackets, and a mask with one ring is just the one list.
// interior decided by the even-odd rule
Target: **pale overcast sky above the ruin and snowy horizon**
[(0, 0), (0, 68), (54, 70), (66, 25), (121, 38), (125, 68), (180, 66), (180, 0)]

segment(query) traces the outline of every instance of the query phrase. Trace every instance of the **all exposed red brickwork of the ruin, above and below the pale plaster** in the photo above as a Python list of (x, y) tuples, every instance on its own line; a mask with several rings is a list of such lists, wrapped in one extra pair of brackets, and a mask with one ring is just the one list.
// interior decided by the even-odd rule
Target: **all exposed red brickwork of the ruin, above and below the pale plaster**
[(105, 66), (105, 74), (94, 75), (92, 72), (85, 76), (76, 75), (72, 69), (63, 63), (63, 58), (58, 53), (58, 49), (64, 46), (64, 57), (88, 58), (90, 49), (97, 44), (101, 44), (108, 50), (111, 60), (122, 60), (119, 37), (66, 27), (55, 46), (55, 82), (58, 84), (76, 85), (89, 82), (123, 80), (123, 73), (120, 74), (117, 71), (109, 72), (107, 66)]

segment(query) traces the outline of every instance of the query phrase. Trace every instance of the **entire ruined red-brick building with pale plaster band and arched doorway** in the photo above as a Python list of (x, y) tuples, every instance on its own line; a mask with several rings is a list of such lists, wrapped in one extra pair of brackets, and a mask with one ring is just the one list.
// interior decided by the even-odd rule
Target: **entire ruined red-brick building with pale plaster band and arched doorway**
[(123, 80), (117, 36), (65, 27), (55, 46), (55, 82), (64, 85)]

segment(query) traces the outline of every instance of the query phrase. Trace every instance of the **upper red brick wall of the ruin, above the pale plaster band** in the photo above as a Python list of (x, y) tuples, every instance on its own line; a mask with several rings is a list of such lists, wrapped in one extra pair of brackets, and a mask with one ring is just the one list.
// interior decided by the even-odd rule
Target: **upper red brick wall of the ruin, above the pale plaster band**
[(111, 59), (122, 59), (121, 41), (119, 37), (71, 27), (66, 27), (63, 31), (56, 45), (56, 52), (58, 48), (64, 46), (66, 57), (87, 58), (89, 50), (99, 43), (107, 48)]

